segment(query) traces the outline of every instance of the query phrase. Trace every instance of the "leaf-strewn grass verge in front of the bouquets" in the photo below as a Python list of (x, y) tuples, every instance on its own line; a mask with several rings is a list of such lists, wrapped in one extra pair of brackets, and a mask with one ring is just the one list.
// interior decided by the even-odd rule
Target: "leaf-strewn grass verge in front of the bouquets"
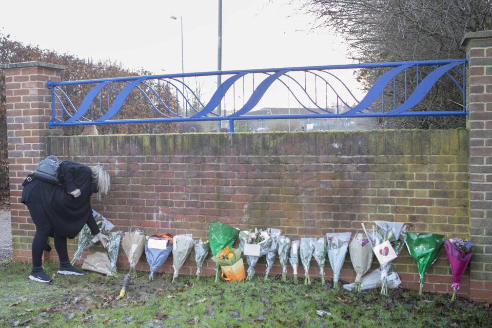
[[(44, 264), (48, 275), (58, 263)], [(0, 262), (0, 327), (489, 327), (492, 306), (450, 295), (398, 288), (335, 292), (320, 280), (310, 286), (258, 276), (248, 282), (214, 284), (214, 277), (140, 272), (120, 299), (120, 278), (93, 272), (55, 275), (44, 284), (28, 279), (29, 263)], [(320, 317), (316, 310), (330, 315)]]

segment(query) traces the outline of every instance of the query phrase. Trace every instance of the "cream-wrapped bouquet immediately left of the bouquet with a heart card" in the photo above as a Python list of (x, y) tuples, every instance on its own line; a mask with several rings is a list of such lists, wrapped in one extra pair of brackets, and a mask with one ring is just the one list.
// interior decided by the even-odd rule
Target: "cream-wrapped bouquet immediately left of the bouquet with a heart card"
[(348, 244), (350, 253), (350, 261), (353, 269), (356, 272), (355, 290), (361, 291), (362, 276), (369, 270), (372, 263), (372, 248), (369, 244), (369, 239), (363, 234), (357, 234)]

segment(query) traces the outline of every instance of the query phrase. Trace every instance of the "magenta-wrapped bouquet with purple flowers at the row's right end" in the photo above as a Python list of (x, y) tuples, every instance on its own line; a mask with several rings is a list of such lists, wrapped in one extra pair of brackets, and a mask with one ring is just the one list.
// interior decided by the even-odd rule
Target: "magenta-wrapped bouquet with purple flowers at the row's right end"
[(451, 264), (452, 272), (452, 297), (451, 301), (456, 299), (456, 293), (460, 289), (461, 278), (465, 273), (466, 266), (473, 255), (474, 244), (468, 239), (453, 238), (444, 243), (446, 255)]

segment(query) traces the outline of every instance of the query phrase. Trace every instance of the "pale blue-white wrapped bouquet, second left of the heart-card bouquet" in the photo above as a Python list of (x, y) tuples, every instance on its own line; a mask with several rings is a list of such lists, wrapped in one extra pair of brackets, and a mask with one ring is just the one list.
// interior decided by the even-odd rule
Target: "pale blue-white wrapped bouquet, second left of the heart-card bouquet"
[(327, 254), (330, 261), (331, 269), (333, 270), (333, 288), (339, 290), (338, 278), (342, 270), (345, 255), (347, 254), (348, 243), (351, 233), (327, 233), (326, 240), (328, 241)]

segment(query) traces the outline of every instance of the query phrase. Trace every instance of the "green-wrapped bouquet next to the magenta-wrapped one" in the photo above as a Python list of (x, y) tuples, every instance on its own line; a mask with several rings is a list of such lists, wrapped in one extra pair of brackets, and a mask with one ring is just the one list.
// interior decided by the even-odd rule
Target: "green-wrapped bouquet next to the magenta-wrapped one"
[(439, 253), (441, 253), (441, 248), (444, 244), (444, 236), (435, 234), (407, 233), (405, 243), (408, 248), (408, 253), (410, 253), (410, 255), (417, 261), (420, 274), (419, 295), (422, 295), (424, 276), (430, 265), (436, 261)]

